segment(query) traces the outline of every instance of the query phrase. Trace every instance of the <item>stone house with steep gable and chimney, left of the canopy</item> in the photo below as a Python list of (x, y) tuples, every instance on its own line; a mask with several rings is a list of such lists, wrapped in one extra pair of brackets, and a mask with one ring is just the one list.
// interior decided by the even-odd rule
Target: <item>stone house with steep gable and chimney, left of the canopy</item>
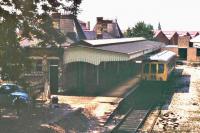
[(75, 16), (54, 13), (52, 18), (54, 28), (60, 30), (66, 37), (66, 42), (61, 44), (61, 47), (38, 47), (36, 44), (40, 40), (35, 38), (24, 39), (21, 46), (25, 47), (26, 55), (32, 60), (33, 66), (32, 72), (25, 74), (26, 79), (35, 84), (42, 83), (42, 87), (48, 84), (51, 92), (56, 93), (62, 87), (62, 63), (66, 58), (63, 56), (64, 49), (72, 43), (86, 39), (86, 36)]

